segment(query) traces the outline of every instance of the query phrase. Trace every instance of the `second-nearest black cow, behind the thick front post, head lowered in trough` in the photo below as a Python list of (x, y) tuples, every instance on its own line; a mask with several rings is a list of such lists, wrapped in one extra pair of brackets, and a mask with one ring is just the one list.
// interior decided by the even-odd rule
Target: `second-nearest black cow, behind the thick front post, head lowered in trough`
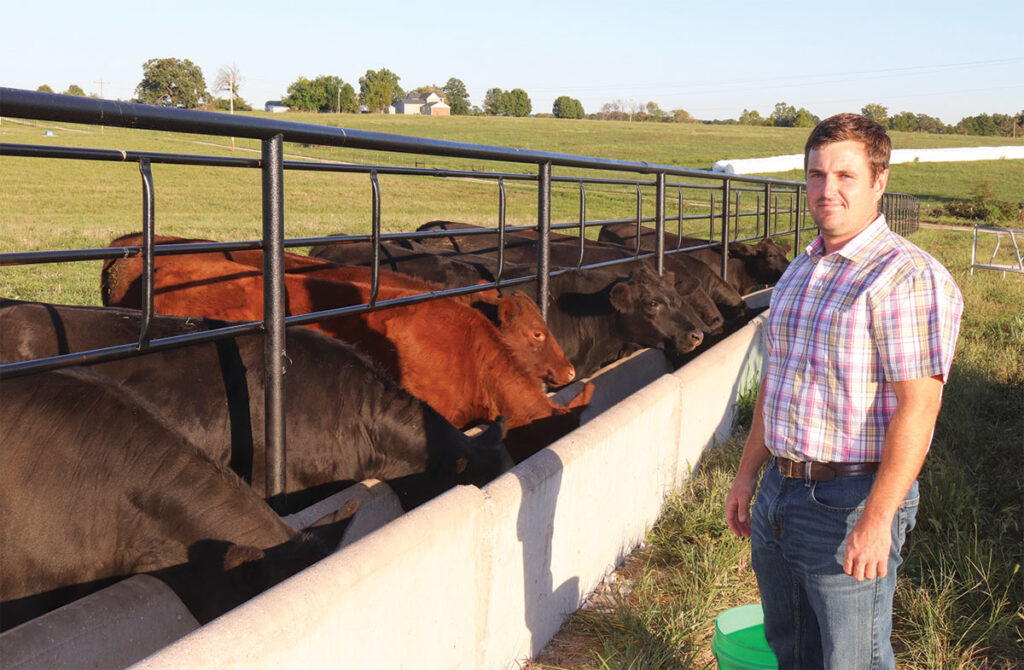
[[(0, 361), (131, 342), (138, 337), (139, 320), (133, 309), (5, 300), (0, 302)], [(152, 332), (162, 337), (215, 325), (158, 317)], [(501, 444), (503, 420), (468, 437), (337, 339), (290, 328), (285, 366), (287, 491), (308, 494), (289, 495), (290, 506), (365, 478), (395, 483), (396, 493), (407, 496), (403, 504), (414, 506), (456, 484), (483, 485), (511, 465)], [(91, 367), (151, 401), (188, 439), (218, 463), (230, 464), (263, 495), (261, 336)]]

